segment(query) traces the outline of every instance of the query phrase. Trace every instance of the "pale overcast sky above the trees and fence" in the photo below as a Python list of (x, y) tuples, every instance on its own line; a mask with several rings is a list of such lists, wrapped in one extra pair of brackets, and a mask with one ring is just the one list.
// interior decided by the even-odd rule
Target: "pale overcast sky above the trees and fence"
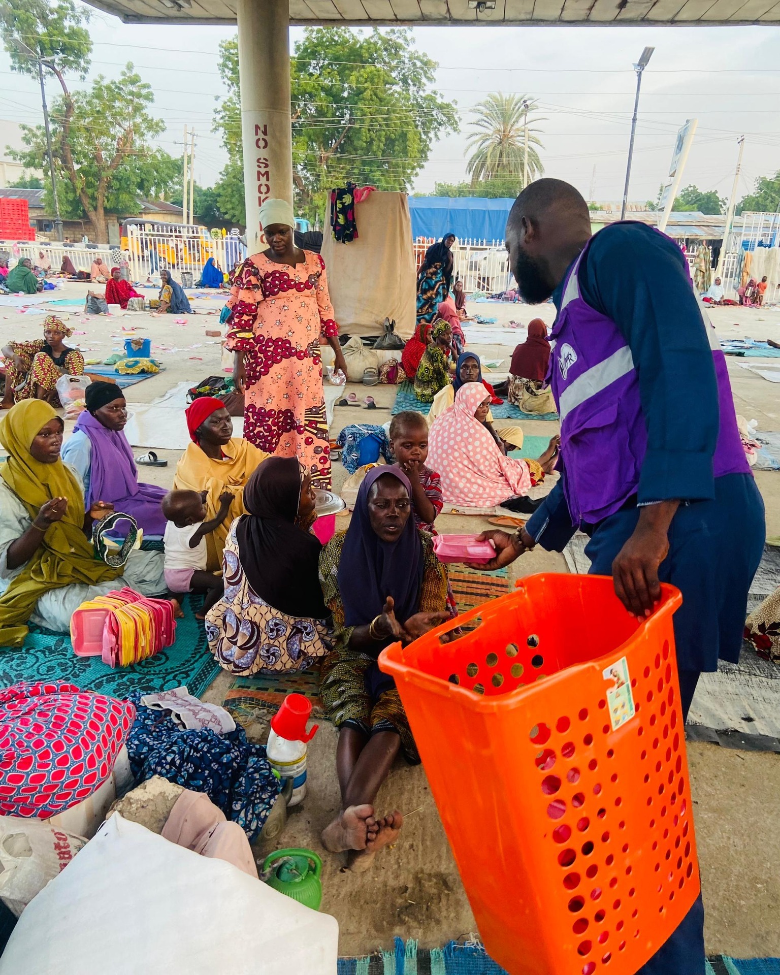
[[(225, 162), (220, 137), (211, 132), (215, 99), (224, 93), (218, 44), (234, 31), (130, 25), (94, 11), (92, 32), (93, 75), (116, 77), (132, 60), (152, 85), (155, 111), (166, 121), (161, 144), (180, 153), (184, 125), (194, 126), (195, 176), (211, 185)], [(291, 34), (294, 44), (300, 30)], [(420, 27), (414, 38), (439, 62), (439, 90), (461, 113), (460, 134), (431, 147), (418, 191), (432, 190), (437, 180), (465, 178), (469, 109), (501, 91), (540, 101), (548, 176), (573, 182), (589, 198), (593, 187), (594, 199), (619, 200), (636, 87), (631, 65), (645, 45), (654, 46), (655, 54), (643, 77), (630, 199), (655, 197), (686, 118), (698, 119), (698, 131), (683, 185), (727, 196), (740, 135), (746, 137), (740, 196), (757, 176), (780, 170), (780, 28)], [(2, 118), (39, 122), (37, 82), (13, 74), (2, 52), (0, 79)], [(54, 79), (48, 91), (56, 96)]]

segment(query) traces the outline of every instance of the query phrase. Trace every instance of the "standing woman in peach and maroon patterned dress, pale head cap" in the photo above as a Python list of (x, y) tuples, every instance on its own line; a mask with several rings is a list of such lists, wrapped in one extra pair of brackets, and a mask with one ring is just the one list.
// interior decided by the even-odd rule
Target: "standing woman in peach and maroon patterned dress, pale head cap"
[(313, 487), (331, 487), (320, 340), (346, 375), (333, 319), (325, 262), (294, 245), (292, 206), (267, 200), (260, 222), (268, 250), (248, 257), (233, 276), (226, 346), (233, 378), (245, 394), (244, 437), (279, 457), (297, 455)]

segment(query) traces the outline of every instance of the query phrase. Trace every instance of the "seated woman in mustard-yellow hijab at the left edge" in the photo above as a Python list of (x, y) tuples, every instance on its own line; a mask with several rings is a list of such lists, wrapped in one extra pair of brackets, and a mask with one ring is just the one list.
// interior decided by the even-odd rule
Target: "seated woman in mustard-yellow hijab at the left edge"
[(97, 501), (85, 515), (81, 484), (59, 457), (63, 428), (42, 400), (0, 420), (10, 454), (0, 466), (0, 646), (20, 646), (30, 621), (67, 632), (80, 604), (124, 585), (166, 591), (160, 552), (133, 552), (123, 569), (95, 558), (88, 534), (111, 505)]

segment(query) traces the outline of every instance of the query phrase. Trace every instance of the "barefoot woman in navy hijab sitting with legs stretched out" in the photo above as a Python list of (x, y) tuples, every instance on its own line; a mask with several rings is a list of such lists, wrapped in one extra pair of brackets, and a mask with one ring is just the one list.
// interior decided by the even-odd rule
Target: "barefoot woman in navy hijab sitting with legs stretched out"
[(323, 665), (321, 696), (338, 726), (336, 773), (341, 809), (323, 833), (331, 852), (350, 850), (362, 870), (393, 842), (403, 824), (396, 811), (374, 815), (373, 801), (399, 751), (419, 762), (393, 680), (376, 658), (390, 643), (410, 643), (448, 619), (447, 569), (431, 536), (414, 527), (409, 480), (397, 468), (374, 467), (358, 491), (345, 532), (320, 560), (336, 648)]

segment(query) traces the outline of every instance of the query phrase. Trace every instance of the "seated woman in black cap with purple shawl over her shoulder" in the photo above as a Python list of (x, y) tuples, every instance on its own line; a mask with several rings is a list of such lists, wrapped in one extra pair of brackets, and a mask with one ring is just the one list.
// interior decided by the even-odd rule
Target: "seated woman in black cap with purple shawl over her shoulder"
[(86, 510), (93, 501), (105, 501), (131, 515), (145, 535), (162, 536), (166, 521), (160, 502), (166, 489), (138, 483), (133, 450), (123, 432), (128, 412), (122, 390), (113, 382), (93, 382), (85, 402), (87, 409), (61, 456), (84, 485)]

